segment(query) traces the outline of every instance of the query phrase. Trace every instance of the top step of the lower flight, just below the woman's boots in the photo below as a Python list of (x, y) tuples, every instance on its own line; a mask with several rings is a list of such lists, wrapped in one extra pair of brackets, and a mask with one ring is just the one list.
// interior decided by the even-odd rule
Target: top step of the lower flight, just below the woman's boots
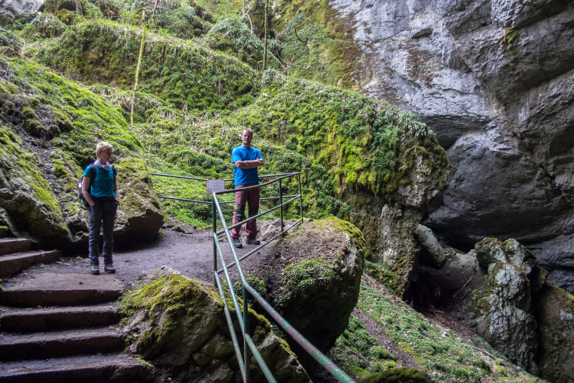
[(4, 285), (0, 303), (11, 307), (98, 304), (118, 299), (123, 288), (115, 274), (95, 276), (89, 272), (44, 272), (19, 282)]

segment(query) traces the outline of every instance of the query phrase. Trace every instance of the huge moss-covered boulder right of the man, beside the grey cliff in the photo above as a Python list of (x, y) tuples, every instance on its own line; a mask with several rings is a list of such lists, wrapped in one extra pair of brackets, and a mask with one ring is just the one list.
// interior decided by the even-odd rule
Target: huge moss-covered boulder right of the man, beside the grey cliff
[(241, 121), (324, 169), (323, 189), (344, 203), (332, 214), (363, 232), (365, 256), (396, 273), (404, 295), (417, 278), (413, 231), (451, 169), (435, 134), (408, 111), (337, 87), (286, 79), (263, 91)]

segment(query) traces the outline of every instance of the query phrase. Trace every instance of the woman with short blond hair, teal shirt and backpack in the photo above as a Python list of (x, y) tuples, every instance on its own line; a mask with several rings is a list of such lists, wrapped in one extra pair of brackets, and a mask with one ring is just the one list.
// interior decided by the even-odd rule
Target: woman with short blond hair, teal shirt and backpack
[[(82, 194), (90, 205), (90, 272), (99, 275), (100, 227), (104, 232), (104, 272), (115, 273), (112, 253), (114, 251), (114, 220), (118, 208), (117, 172), (110, 165), (112, 146), (109, 142), (100, 142), (96, 146), (98, 160), (86, 168), (82, 179)], [(92, 169), (95, 174), (92, 174)], [(94, 181), (90, 185), (91, 177)]]

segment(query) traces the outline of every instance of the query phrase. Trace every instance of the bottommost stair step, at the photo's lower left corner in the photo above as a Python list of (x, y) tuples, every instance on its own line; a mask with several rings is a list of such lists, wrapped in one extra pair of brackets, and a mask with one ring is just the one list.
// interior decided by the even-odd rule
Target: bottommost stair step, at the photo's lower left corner
[(123, 354), (76, 355), (0, 364), (1, 383), (144, 383), (152, 380), (152, 367)]

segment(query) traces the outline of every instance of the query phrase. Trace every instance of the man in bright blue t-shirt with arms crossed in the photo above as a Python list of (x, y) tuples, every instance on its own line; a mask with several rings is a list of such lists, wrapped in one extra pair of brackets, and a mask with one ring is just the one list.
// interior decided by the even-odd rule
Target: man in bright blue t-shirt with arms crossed
[[(233, 148), (231, 152), (231, 162), (235, 164), (235, 188), (245, 188), (259, 184), (257, 168), (263, 166), (263, 156), (258, 149), (251, 147), (253, 140), (253, 130), (243, 129), (241, 131), (241, 146)], [(248, 205), (247, 213), (249, 217), (257, 215), (259, 212), (259, 188), (246, 191), (235, 192), (235, 212), (233, 214), (233, 225), (245, 219), (245, 205)], [(257, 222), (251, 220), (245, 224), (247, 231), (247, 245), (259, 245), (257, 241)], [(243, 244), (239, 241), (239, 231), (241, 226), (231, 230), (231, 242), (233, 246), (241, 248)]]

